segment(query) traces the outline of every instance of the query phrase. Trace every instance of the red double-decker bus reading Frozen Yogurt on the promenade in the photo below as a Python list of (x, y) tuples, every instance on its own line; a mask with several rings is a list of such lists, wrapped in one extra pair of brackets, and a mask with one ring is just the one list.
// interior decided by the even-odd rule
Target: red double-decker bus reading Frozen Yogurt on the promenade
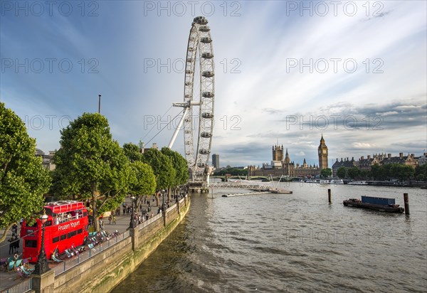
[[(88, 238), (88, 212), (84, 203), (80, 201), (56, 201), (44, 206), (48, 220), (45, 223), (45, 250), (46, 257), (52, 253), (83, 245)], [(33, 225), (24, 221), (21, 227), (23, 239), (23, 258), (30, 258), (30, 262), (37, 262), (41, 247), (41, 220), (38, 218)]]

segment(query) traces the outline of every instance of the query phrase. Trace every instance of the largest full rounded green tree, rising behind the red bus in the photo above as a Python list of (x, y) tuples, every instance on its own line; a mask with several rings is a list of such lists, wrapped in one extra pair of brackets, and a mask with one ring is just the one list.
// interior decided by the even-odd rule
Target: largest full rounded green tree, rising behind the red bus
[(60, 134), (60, 149), (53, 157), (61, 179), (58, 189), (79, 200), (90, 199), (94, 218), (120, 206), (129, 188), (130, 164), (112, 139), (107, 119), (84, 113)]

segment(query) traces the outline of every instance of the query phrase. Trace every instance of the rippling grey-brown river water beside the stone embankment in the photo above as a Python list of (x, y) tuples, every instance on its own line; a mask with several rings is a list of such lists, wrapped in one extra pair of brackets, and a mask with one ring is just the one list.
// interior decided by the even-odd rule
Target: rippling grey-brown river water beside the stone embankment
[[(280, 185), (293, 194), (191, 195), (183, 222), (112, 292), (426, 292), (426, 190)], [(404, 192), (409, 217), (342, 205), (367, 195), (404, 206)]]

